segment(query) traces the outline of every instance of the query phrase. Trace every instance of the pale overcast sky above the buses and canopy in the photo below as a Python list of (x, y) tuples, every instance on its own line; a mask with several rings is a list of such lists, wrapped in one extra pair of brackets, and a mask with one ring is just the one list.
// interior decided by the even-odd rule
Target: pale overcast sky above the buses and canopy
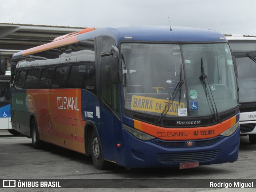
[(256, 0), (0, 0), (0, 23), (164, 25), (256, 36)]

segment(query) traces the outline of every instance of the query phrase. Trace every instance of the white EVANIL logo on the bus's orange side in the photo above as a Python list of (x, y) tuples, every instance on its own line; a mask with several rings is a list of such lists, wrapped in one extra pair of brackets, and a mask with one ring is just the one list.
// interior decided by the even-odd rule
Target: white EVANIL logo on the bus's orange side
[(57, 97), (57, 105), (59, 109), (80, 111), (77, 97)]

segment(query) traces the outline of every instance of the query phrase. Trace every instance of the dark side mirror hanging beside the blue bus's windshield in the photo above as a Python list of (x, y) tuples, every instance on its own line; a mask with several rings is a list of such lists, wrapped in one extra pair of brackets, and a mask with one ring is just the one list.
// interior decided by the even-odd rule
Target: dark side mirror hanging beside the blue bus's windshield
[(112, 45), (111, 51), (113, 52), (113, 57), (111, 59), (111, 81), (112, 83), (121, 83), (121, 62), (118, 58), (119, 50), (116, 46)]

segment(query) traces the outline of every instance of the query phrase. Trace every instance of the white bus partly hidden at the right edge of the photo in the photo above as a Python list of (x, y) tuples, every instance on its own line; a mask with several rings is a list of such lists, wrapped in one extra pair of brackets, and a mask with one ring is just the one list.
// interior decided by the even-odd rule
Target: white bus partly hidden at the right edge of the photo
[(256, 36), (226, 36), (236, 57), (241, 136), (256, 144)]

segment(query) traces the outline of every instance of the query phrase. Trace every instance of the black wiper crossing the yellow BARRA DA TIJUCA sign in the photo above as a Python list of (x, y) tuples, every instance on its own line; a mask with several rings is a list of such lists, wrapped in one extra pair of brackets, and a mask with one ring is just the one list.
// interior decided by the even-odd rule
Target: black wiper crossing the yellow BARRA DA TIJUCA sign
[(172, 104), (173, 104), (173, 102), (174, 102), (174, 99), (175, 99), (175, 97), (176, 97), (178, 91), (180, 91), (180, 92), (179, 92), (179, 93), (180, 93), (179, 102), (180, 102), (180, 100), (181, 100), (181, 87), (182, 87), (183, 84), (184, 84), (184, 81), (183, 81), (183, 79), (182, 79), (182, 64), (180, 64), (180, 81), (179, 81), (178, 84), (176, 85), (176, 87), (175, 87), (173, 93), (171, 94), (172, 96), (169, 98), (169, 101), (168, 101), (168, 103), (166, 104), (166, 106), (165, 106), (163, 112), (161, 113), (160, 117), (158, 118), (157, 123), (161, 124), (161, 123), (163, 122), (163, 120), (164, 120), (164, 118), (165, 118), (165, 116), (166, 116), (168, 110), (170, 109), (170, 107), (172, 106)]

